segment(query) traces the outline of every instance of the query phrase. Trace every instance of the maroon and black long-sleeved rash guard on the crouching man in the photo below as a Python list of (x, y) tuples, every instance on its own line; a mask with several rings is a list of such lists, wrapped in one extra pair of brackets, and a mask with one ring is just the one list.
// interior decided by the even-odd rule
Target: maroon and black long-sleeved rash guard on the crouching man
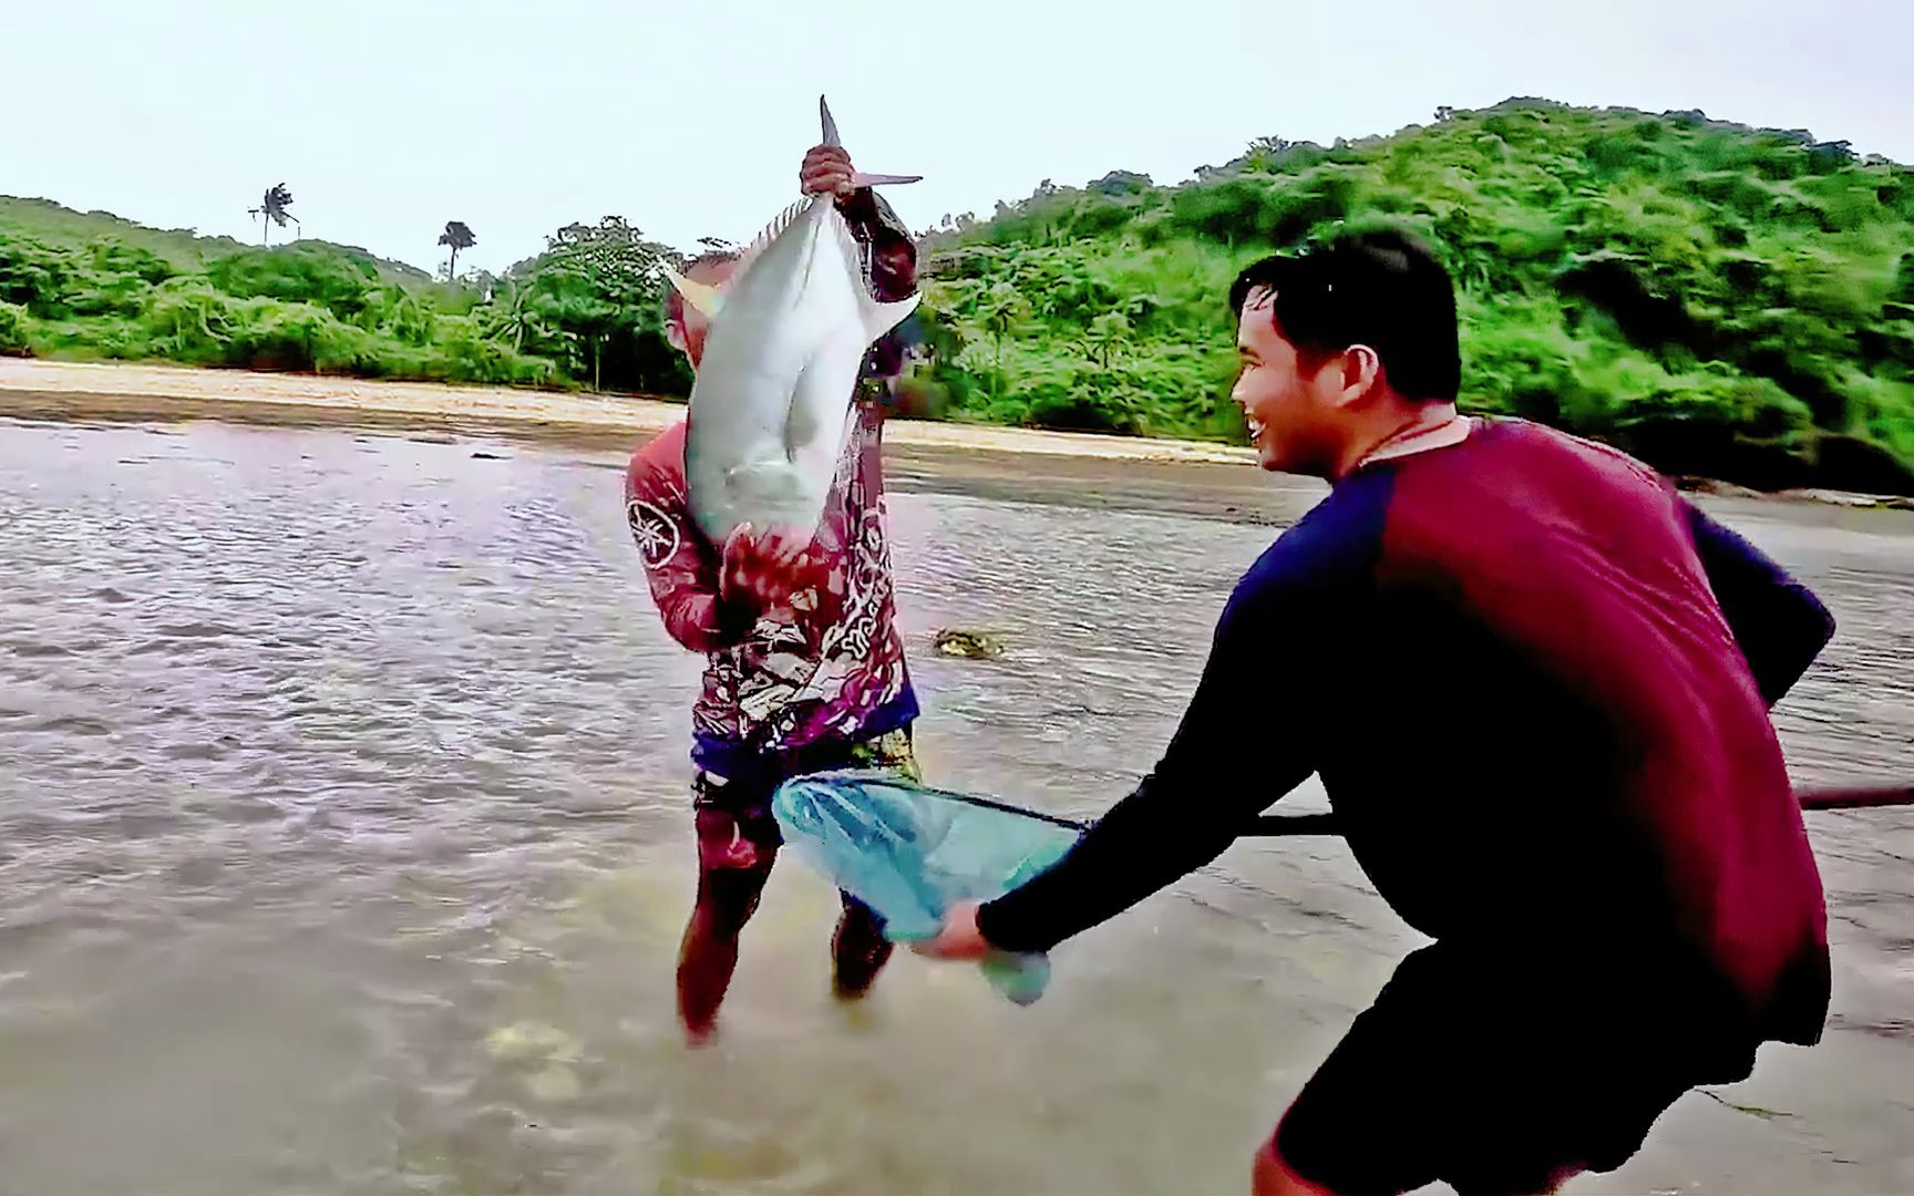
[(1416, 930), (1816, 1041), (1822, 886), (1769, 708), (1832, 633), (1638, 461), (1478, 423), (1355, 471), (1256, 561), (1150, 775), (978, 928), (1049, 949), (1321, 773)]

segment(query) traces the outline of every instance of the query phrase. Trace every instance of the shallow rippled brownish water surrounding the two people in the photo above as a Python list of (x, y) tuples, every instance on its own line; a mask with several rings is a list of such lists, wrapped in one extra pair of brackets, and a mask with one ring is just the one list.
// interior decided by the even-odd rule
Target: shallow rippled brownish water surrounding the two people
[[(1416, 941), (1334, 840), (1242, 842), (1058, 951), (1032, 1008), (907, 955), (836, 1007), (835, 894), (787, 859), (722, 1045), (679, 1047), (699, 660), (618, 463), (0, 423), (0, 1192), (1244, 1190)], [(1102, 467), (1097, 509), (978, 473), (896, 469), (926, 775), (1093, 813), (1273, 530), (1198, 517), (1213, 473), (1168, 501)], [(1277, 519), (1317, 494), (1238, 471), (1208, 505), (1250, 482)], [(1914, 519), (1721, 509), (1843, 624), (1778, 712), (1797, 773), (1914, 769)], [(938, 626), (1009, 654), (938, 658)], [(1571, 1190), (1914, 1192), (1914, 815), (1811, 829), (1826, 1041)]]

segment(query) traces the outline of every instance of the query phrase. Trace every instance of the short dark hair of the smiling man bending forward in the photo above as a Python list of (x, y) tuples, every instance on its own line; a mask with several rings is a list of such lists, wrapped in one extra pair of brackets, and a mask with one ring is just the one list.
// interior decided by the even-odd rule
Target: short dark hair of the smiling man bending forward
[(1259, 287), (1275, 295), (1277, 331), (1307, 367), (1369, 344), (1405, 398), (1455, 402), (1462, 388), (1455, 283), (1414, 235), (1393, 228), (1351, 232), (1294, 256), (1254, 262), (1229, 289), (1231, 316)]

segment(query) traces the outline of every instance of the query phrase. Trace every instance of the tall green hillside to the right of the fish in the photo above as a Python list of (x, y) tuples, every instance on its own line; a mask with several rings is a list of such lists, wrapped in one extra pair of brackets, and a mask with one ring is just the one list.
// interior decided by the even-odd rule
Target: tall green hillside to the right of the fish
[(926, 241), (926, 400), (1240, 438), (1221, 297), (1248, 260), (1407, 224), (1462, 291), (1466, 406), (1671, 473), (1914, 488), (1914, 176), (1805, 132), (1510, 100), (1160, 188), (1039, 186)]

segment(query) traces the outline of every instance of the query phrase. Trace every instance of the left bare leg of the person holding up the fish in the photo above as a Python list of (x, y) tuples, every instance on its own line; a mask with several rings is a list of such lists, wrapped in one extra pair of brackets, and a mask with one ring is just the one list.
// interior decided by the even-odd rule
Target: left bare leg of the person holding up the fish
[(754, 846), (722, 809), (701, 809), (699, 896), (678, 949), (678, 1020), (693, 1047), (710, 1041), (737, 970), (737, 940), (758, 909), (777, 848)]

